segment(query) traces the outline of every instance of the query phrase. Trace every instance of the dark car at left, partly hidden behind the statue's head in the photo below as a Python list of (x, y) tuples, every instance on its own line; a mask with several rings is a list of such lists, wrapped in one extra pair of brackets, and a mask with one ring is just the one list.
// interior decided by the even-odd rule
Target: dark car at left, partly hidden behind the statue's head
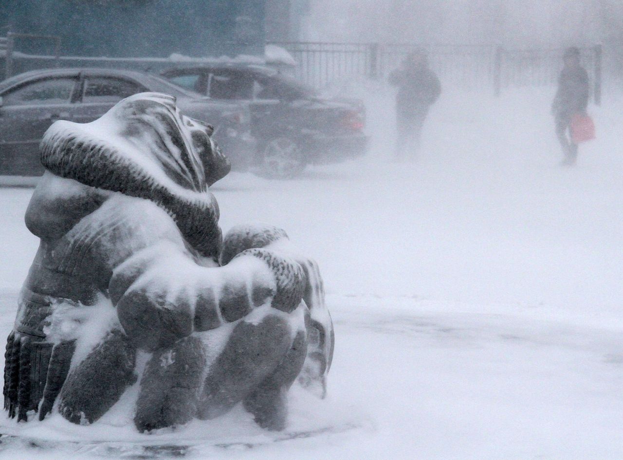
[[(185, 115), (214, 126), (224, 153), (255, 152), (249, 135), (250, 114), (244, 106), (213, 101), (140, 72), (103, 68), (34, 70), (0, 82), (0, 182), (25, 184), (40, 176), (39, 142), (55, 120), (87, 123), (118, 101), (141, 92), (176, 96)], [(24, 177), (26, 176), (26, 177)]]

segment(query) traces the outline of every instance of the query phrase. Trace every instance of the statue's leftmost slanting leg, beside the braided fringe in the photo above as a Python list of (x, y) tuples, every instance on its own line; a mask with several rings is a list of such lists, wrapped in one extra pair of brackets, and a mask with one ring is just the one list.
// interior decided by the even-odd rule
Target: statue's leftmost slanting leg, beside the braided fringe
[(136, 350), (121, 331), (112, 331), (72, 370), (60, 392), (59, 411), (88, 425), (104, 415), (136, 382)]

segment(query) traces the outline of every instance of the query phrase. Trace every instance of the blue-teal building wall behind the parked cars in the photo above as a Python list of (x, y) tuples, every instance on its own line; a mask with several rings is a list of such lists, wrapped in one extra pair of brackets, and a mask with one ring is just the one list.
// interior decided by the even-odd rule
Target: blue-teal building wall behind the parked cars
[[(62, 54), (108, 57), (261, 55), (266, 0), (0, 2), (0, 31), (59, 35)], [(20, 40), (16, 50), (40, 53)]]

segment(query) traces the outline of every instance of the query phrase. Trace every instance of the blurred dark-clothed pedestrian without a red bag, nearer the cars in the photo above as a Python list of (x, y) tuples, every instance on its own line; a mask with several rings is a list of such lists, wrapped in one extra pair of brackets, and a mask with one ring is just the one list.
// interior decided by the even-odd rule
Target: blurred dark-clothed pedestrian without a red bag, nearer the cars
[(424, 52), (409, 54), (389, 75), (389, 83), (398, 88), (396, 95), (396, 159), (413, 156), (419, 149), (422, 126), (430, 106), (439, 98), (439, 78), (430, 70)]

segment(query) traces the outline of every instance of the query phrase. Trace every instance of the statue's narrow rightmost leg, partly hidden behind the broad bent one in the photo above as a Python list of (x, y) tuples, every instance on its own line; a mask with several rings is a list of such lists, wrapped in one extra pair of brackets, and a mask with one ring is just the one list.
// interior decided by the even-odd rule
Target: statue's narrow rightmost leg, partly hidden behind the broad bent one
[(257, 425), (272, 430), (285, 428), (288, 388), (301, 371), (306, 355), (307, 334), (299, 331), (275, 371), (244, 399), (244, 408), (253, 414)]

